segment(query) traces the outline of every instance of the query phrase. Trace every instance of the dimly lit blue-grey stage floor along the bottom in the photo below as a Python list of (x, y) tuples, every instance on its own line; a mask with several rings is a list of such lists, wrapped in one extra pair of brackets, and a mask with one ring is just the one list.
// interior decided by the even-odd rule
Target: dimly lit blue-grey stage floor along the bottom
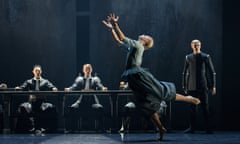
[(214, 134), (166, 133), (159, 142), (157, 133), (117, 134), (0, 134), (0, 144), (240, 144), (240, 131)]

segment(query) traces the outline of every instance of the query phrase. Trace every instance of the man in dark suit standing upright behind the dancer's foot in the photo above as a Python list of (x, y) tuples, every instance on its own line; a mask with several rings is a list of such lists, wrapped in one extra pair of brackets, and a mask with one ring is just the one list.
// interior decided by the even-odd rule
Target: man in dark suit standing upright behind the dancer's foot
[[(212, 133), (209, 123), (208, 90), (216, 94), (216, 73), (209, 54), (201, 52), (201, 42), (192, 40), (193, 53), (188, 54), (183, 69), (183, 90), (201, 100), (206, 133)], [(185, 133), (194, 133), (196, 130), (196, 105), (190, 105), (190, 127)]]

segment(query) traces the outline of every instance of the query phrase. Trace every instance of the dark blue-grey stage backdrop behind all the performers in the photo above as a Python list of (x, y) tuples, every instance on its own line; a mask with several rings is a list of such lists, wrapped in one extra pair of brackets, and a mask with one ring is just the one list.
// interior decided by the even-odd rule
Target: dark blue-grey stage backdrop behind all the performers
[[(222, 1), (219, 0), (1, 0), (1, 81), (10, 87), (32, 76), (32, 65), (43, 66), (44, 77), (60, 89), (72, 84), (82, 64), (109, 89), (118, 89), (126, 53), (113, 41), (101, 23), (110, 12), (120, 16), (125, 34), (155, 38), (146, 51), (143, 67), (181, 90), (185, 55), (192, 39), (202, 41), (202, 50), (212, 56), (217, 72), (218, 94), (211, 97), (215, 126), (222, 121)], [(172, 127), (186, 128), (188, 105), (172, 107)]]

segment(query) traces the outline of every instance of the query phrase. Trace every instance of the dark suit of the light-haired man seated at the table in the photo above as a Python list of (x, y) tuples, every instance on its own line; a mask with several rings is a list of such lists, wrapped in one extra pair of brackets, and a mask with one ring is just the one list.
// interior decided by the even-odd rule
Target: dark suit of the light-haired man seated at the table
[[(97, 76), (89, 78), (78, 76), (72, 86), (69, 87), (70, 90), (103, 90), (103, 88), (104, 86), (101, 83), (100, 78)], [(86, 110), (88, 111), (87, 113)], [(95, 125), (95, 129), (103, 129), (103, 106), (100, 104), (99, 99), (96, 95), (80, 95), (78, 100), (72, 104), (71, 107), (69, 107), (69, 112), (66, 116), (69, 117), (67, 121), (70, 121), (70, 123), (67, 122), (67, 125), (70, 124), (67, 126), (67, 129), (69, 128), (73, 131), (77, 131), (77, 129), (79, 129), (79, 127), (76, 126), (76, 123), (79, 121), (79, 116), (81, 117), (81, 120), (89, 118), (98, 120), (100, 124)], [(90, 119), (88, 120), (88, 123), (89, 121)]]

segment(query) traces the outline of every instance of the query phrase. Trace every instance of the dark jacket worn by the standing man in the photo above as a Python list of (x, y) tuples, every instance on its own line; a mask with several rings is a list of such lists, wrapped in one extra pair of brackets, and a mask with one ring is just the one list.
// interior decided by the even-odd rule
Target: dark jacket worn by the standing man
[(216, 73), (209, 54), (201, 52), (186, 55), (182, 86), (186, 91), (207, 90), (216, 87)]

